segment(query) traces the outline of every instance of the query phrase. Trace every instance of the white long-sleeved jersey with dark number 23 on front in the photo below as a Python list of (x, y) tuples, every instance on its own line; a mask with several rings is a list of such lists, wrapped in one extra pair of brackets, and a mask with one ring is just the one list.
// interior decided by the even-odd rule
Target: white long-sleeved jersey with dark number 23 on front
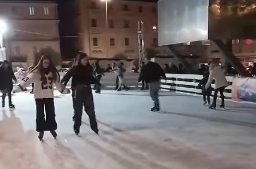
[(41, 77), (41, 74), (37, 71), (30, 73), (17, 87), (14, 88), (13, 92), (22, 91), (22, 89), (25, 89), (31, 83), (35, 84), (35, 99), (53, 98), (54, 84), (60, 93), (69, 93), (69, 89), (65, 88), (65, 86), (60, 83), (60, 80), (58, 80), (58, 82), (53, 81), (52, 72), (44, 74), (44, 77)]

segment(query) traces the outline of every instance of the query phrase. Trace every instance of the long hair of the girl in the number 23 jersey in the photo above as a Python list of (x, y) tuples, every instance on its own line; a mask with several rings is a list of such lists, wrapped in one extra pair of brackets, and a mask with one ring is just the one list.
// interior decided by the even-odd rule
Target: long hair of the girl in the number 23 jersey
[(44, 67), (43, 67), (43, 61), (44, 60), (49, 60), (50, 61), (50, 65), (49, 65), (48, 69), (50, 70), (50, 72), (52, 72), (53, 80), (55, 82), (59, 82), (60, 81), (60, 74), (58, 73), (58, 70), (54, 66), (50, 56), (48, 56), (48, 55), (43, 55), (40, 58), (38, 64), (29, 73), (32, 73), (35, 70), (38, 70), (40, 72), (41, 76), (42, 76), (44, 74)]

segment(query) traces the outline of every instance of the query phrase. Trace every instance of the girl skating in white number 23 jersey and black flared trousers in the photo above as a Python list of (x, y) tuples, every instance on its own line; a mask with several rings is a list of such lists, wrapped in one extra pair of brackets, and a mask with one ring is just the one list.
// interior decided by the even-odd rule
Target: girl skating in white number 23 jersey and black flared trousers
[[(14, 92), (22, 91), (25, 87), (35, 83), (35, 106), (36, 106), (36, 131), (39, 132), (40, 140), (44, 137), (44, 131), (50, 131), (54, 138), (57, 137), (57, 123), (54, 108), (54, 84), (62, 94), (70, 93), (60, 83), (60, 75), (50, 57), (44, 55), (29, 75), (14, 89)], [(45, 109), (45, 113), (44, 113)]]

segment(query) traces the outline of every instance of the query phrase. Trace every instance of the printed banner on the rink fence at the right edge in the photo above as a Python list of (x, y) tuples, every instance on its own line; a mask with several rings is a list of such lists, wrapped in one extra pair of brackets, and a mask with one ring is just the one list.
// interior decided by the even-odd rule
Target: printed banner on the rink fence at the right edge
[(235, 77), (232, 84), (232, 100), (256, 103), (256, 78)]

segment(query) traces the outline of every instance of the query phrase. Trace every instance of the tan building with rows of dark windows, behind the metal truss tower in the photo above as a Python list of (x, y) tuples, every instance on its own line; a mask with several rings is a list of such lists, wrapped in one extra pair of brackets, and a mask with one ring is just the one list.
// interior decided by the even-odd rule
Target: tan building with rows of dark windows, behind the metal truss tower
[(91, 58), (138, 58), (137, 22), (144, 22), (145, 48), (157, 46), (157, 4), (111, 0), (76, 0), (77, 48)]

